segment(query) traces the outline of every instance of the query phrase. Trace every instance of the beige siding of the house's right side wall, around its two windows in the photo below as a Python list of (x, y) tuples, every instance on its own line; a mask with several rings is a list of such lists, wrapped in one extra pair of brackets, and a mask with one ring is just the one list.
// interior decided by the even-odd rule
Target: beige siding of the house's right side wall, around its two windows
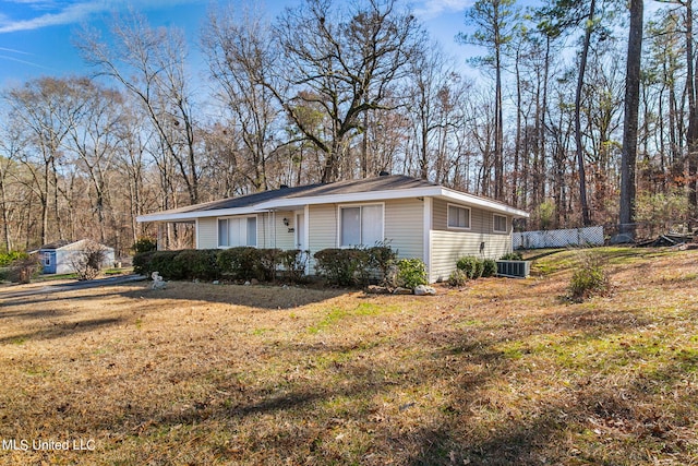
[[(433, 229), (430, 232), (430, 282), (448, 278), (456, 270), (456, 261), (464, 255), (500, 259), (512, 252), (512, 217), (507, 216), (507, 232), (494, 232), (494, 213), (470, 207), (470, 228), (447, 226), (448, 203), (434, 200)], [(464, 206), (467, 207), (467, 206)], [(484, 248), (481, 250), (481, 244)]]

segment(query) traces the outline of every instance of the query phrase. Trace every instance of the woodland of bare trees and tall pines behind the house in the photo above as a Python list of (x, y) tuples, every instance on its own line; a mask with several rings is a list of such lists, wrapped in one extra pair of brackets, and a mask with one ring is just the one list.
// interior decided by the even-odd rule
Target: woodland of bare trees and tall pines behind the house
[[(637, 19), (642, 2), (630, 3)], [(528, 229), (617, 226), (627, 3), (476, 1), (456, 39), (479, 47), (478, 79), (401, 4), (303, 0), (273, 20), (212, 10), (205, 70), (180, 29), (136, 12), (83, 29), (74, 44), (93, 74), (2, 89), (0, 242), (89, 237), (123, 254), (153, 234), (143, 213), (382, 170), (527, 210)], [(693, 26), (691, 0), (646, 13), (629, 138), (640, 225), (696, 218)]]

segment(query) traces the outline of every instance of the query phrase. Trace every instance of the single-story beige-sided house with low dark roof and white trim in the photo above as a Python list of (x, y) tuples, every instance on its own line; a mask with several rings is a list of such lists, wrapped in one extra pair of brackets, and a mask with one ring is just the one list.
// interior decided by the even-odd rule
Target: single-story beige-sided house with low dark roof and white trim
[(491, 199), (384, 175), (281, 187), (142, 215), (137, 222), (192, 223), (196, 249), (253, 246), (312, 255), (387, 241), (400, 258), (423, 260), (434, 283), (446, 279), (464, 255), (498, 259), (512, 252), (512, 220), (528, 216)]

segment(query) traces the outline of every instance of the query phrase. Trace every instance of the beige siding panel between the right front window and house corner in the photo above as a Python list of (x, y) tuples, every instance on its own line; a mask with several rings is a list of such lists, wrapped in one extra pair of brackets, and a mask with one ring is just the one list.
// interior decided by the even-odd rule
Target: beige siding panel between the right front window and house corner
[[(424, 260), (424, 201), (400, 199), (385, 202), (384, 236), (400, 259)], [(373, 244), (371, 244), (373, 246)]]

